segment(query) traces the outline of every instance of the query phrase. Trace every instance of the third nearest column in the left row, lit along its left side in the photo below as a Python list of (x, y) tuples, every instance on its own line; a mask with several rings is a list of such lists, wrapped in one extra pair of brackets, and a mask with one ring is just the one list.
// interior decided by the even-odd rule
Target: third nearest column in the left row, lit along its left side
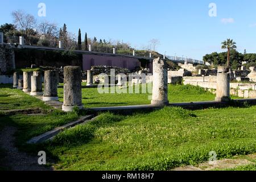
[(31, 96), (42, 96), (42, 73), (41, 72), (33, 72), (33, 76), (31, 76)]

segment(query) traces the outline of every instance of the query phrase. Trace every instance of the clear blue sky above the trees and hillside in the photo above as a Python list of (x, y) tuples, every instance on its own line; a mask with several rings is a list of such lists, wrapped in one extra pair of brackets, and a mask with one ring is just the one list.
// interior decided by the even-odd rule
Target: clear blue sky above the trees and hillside
[[(38, 16), (38, 4), (46, 4), (46, 17)], [(210, 17), (209, 3), (216, 3), (217, 16)], [(159, 39), (156, 50), (167, 55), (202, 59), (220, 52), (226, 38), (237, 42), (238, 51), (256, 52), (255, 0), (6, 0), (1, 1), (0, 24), (12, 23), (11, 12), (24, 10), (38, 21), (47, 19), (90, 38), (114, 39), (131, 46), (147, 46)], [(224, 23), (228, 21), (228, 23)]]

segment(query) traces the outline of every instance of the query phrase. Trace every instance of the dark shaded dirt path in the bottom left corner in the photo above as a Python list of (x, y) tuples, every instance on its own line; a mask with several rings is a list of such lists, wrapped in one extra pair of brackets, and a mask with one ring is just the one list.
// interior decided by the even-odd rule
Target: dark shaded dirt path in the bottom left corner
[(38, 164), (39, 156), (30, 156), (20, 152), (14, 146), (15, 127), (7, 126), (0, 133), (0, 147), (5, 150), (5, 157), (0, 166), (14, 171), (51, 171)]

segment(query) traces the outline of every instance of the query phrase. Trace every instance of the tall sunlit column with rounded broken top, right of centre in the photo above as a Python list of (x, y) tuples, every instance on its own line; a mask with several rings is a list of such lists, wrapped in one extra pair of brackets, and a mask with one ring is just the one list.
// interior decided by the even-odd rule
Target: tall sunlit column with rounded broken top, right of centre
[(168, 105), (167, 63), (160, 59), (153, 60), (152, 105)]

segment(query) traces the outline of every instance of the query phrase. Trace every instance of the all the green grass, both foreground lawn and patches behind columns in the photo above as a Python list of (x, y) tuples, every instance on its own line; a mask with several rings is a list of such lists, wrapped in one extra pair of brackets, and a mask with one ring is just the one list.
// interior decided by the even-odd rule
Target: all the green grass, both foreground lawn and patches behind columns
[[(214, 99), (213, 94), (195, 86), (169, 85), (169, 90), (171, 102)], [(107, 95), (97, 94), (95, 89), (83, 89), (83, 104), (92, 107), (149, 102), (148, 94), (130, 94), (130, 99), (122, 94)], [(102, 101), (105, 104), (100, 104)], [(21, 90), (0, 88), (2, 110), (32, 106), (49, 109)], [(102, 113), (86, 125), (65, 130), (51, 143), (39, 145), (25, 143), (74, 121), (81, 113), (55, 110), (44, 115), (1, 115), (0, 130), (15, 126), (16, 146), (33, 154), (46, 151), (58, 170), (168, 170), (207, 161), (209, 151), (216, 151), (218, 159), (255, 153), (255, 110), (256, 106), (196, 111), (165, 107), (152, 113), (126, 116)]]

